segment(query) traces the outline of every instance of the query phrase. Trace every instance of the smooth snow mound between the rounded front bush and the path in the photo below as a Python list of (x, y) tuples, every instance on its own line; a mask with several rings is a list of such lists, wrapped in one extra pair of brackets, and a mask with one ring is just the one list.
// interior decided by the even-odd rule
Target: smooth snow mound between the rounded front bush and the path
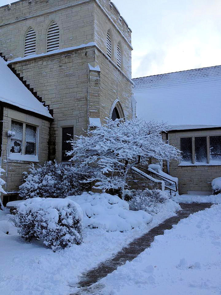
[(107, 193), (83, 193), (68, 197), (83, 210), (83, 225), (107, 232), (131, 230), (152, 222), (152, 216), (142, 210), (130, 211), (129, 204)]

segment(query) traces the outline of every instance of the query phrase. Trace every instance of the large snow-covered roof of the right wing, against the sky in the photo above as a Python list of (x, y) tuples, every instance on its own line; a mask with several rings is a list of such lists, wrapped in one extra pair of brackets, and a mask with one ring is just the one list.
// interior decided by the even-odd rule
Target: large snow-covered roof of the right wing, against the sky
[(137, 116), (169, 125), (221, 126), (221, 65), (132, 80)]

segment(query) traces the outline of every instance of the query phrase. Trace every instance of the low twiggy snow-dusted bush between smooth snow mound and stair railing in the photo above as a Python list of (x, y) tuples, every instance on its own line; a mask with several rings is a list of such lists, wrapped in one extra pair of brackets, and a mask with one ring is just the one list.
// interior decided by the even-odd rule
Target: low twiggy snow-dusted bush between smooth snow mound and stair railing
[(125, 199), (128, 200), (130, 210), (144, 210), (157, 212), (157, 206), (169, 200), (167, 193), (161, 190), (132, 190), (126, 191)]

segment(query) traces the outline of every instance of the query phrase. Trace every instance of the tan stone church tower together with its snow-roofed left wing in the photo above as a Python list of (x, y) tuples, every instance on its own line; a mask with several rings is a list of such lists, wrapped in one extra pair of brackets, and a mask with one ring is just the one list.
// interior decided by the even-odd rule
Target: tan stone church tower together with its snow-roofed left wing
[(109, 0), (20, 0), (0, 7), (4, 203), (29, 163), (66, 161), (66, 141), (135, 114), (131, 29)]

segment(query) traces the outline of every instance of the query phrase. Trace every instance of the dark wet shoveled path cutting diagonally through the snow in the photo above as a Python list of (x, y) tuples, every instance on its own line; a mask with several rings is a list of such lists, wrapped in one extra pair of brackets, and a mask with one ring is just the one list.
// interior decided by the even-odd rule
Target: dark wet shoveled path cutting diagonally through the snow
[(133, 240), (126, 247), (122, 248), (122, 250), (119, 251), (114, 258), (100, 263), (98, 267), (91, 269), (87, 273), (83, 273), (83, 276), (78, 283), (78, 287), (87, 291), (87, 287), (90, 287), (103, 277), (106, 277), (109, 273), (112, 273), (115, 269), (117, 269), (118, 266), (125, 264), (126, 261), (133, 260), (146, 248), (150, 247), (150, 244), (156, 236), (164, 234), (165, 230), (172, 229), (173, 225), (177, 224), (181, 219), (187, 218), (192, 213), (210, 208), (211, 205), (211, 203), (180, 203), (183, 210), (178, 211), (176, 216), (166, 219), (164, 222), (152, 228), (140, 238)]

